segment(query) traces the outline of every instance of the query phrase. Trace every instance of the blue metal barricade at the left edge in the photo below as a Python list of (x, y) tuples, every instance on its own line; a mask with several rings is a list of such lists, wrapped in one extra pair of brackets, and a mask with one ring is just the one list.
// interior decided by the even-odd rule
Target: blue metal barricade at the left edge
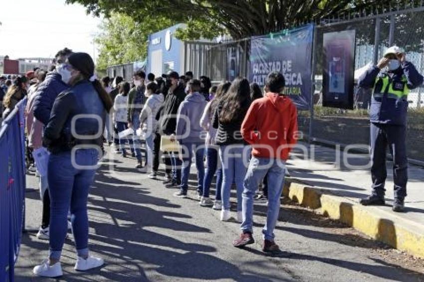
[(0, 282), (14, 281), (24, 225), (25, 105), (20, 101), (0, 127)]

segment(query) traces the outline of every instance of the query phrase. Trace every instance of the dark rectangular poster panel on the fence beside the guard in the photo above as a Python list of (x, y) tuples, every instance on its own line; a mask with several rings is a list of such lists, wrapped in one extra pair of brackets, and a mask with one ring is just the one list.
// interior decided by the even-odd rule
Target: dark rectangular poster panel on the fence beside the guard
[(322, 105), (353, 109), (355, 30), (324, 33)]

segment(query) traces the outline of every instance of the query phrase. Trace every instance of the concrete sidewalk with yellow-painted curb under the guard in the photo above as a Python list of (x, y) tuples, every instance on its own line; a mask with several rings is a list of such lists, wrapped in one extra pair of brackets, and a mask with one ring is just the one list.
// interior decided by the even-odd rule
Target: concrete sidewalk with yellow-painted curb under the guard
[[(386, 206), (364, 207), (359, 205), (358, 202), (360, 198), (371, 193), (372, 183), (368, 154), (346, 155), (343, 150), (337, 152), (334, 148), (316, 144), (300, 143), (300, 145), (305, 145), (305, 148), (293, 150), (291, 159), (287, 162), (287, 167), (294, 182), (303, 183), (305, 184), (303, 187), (310, 187), (309, 192), (312, 191), (312, 195), (308, 196), (312, 200), (309, 200), (308, 203), (308, 201), (302, 199), (301, 203), (303, 202), (304, 205), (312, 208), (320, 208), (324, 214), (342, 220), (395, 248), (424, 257), (424, 247), (421, 244), (424, 243), (423, 167), (409, 166), (408, 196), (405, 199), (406, 212), (394, 213), (392, 211), (393, 166), (391, 161), (387, 162)], [(333, 211), (331, 211), (331, 208), (327, 210), (322, 202), (321, 194), (325, 195), (324, 198), (331, 198), (331, 201), (333, 201), (331, 205), (338, 203), (338, 207), (333, 207)], [(293, 195), (293, 192), (291, 192), (291, 195)], [(299, 198), (299, 196), (296, 197)], [(300, 197), (303, 198), (304, 195)], [(315, 201), (315, 203), (311, 201)], [(343, 211), (343, 205), (349, 206), (349, 211)], [(361, 217), (357, 216), (355, 212), (360, 213)], [(349, 213), (349, 218), (344, 218), (343, 213)], [(364, 216), (364, 214), (368, 216)], [(376, 221), (375, 219), (377, 219), (376, 224), (379, 226), (372, 226), (372, 222)], [(382, 222), (389, 225), (384, 227)], [(419, 243), (420, 245), (418, 245)]]

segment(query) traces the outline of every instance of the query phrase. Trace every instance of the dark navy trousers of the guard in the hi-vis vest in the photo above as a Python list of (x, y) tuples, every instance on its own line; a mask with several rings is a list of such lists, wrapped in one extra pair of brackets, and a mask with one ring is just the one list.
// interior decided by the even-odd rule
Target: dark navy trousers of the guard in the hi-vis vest
[(393, 181), (395, 198), (404, 199), (407, 195), (408, 158), (406, 149), (406, 127), (371, 123), (371, 177), (373, 195), (384, 197), (387, 177), (387, 146), (393, 157)]

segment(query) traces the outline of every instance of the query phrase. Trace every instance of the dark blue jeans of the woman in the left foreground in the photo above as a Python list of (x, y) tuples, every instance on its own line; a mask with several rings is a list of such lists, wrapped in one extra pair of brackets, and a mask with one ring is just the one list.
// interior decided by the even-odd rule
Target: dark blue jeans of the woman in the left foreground
[[(97, 165), (96, 149), (78, 149), (75, 164)], [(88, 189), (96, 170), (76, 167), (71, 162), (71, 152), (51, 154), (47, 177), (50, 191), (50, 258), (59, 260), (68, 230), (68, 211), (71, 212), (72, 231), (78, 256), (88, 255)], [(69, 209), (70, 207), (70, 209)]]

